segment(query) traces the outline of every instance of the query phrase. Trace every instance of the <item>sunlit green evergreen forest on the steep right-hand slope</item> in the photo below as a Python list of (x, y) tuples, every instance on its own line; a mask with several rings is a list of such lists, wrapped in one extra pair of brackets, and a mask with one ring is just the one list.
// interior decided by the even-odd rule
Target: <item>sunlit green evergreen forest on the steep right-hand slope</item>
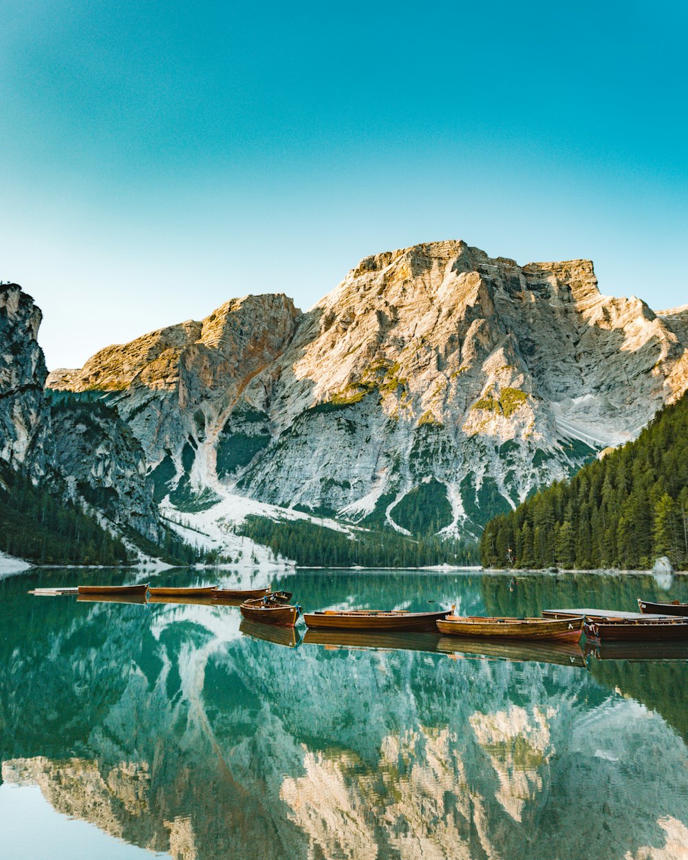
[(485, 567), (688, 568), (688, 395), (634, 442), (492, 519)]

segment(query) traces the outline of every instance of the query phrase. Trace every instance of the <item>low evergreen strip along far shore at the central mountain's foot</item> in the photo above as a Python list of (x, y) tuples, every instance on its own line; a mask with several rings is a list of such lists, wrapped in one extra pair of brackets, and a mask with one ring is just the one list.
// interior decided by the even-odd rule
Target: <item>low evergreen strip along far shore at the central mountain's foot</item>
[(297, 564), (345, 568), (410, 568), (432, 564), (477, 564), (476, 544), (439, 537), (415, 539), (395, 531), (356, 531), (355, 539), (341, 531), (323, 528), (304, 519), (275, 521), (249, 516), (241, 531), (275, 556)]

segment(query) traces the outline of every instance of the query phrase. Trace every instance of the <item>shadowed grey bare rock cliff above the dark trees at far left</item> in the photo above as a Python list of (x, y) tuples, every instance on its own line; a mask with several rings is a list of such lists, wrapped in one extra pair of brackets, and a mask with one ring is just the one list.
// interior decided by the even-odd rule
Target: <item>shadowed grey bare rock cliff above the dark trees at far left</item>
[(46, 396), (41, 318), (20, 286), (0, 286), (0, 459), (111, 524), (159, 540), (152, 482), (129, 427), (88, 397)]

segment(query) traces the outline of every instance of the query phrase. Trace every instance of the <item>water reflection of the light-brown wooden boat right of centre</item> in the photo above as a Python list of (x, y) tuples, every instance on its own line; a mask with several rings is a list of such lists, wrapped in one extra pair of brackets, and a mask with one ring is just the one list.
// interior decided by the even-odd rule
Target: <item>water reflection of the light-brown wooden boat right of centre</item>
[(442, 636), (437, 650), (443, 654), (460, 657), (467, 654), (513, 663), (556, 663), (558, 666), (577, 666), (584, 668), (586, 661), (578, 642), (556, 642), (541, 640), (537, 642), (516, 639), (470, 639), (459, 636)]

